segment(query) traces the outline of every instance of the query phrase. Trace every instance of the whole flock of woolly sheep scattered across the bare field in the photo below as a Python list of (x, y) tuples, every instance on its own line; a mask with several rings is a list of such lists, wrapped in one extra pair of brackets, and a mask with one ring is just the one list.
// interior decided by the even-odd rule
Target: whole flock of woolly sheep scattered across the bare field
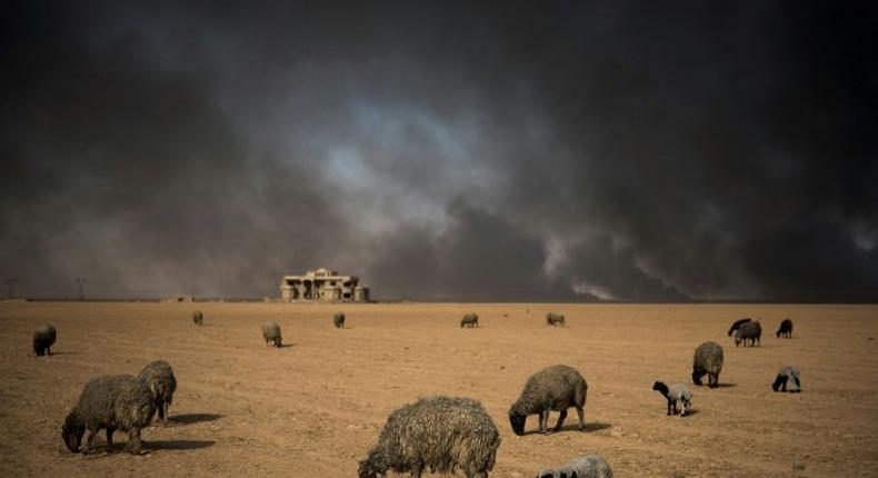
[[(203, 326), (201, 311), (192, 313), (192, 321)], [(345, 328), (345, 315), (332, 317), (337, 328)], [(478, 327), (476, 313), (467, 313), (460, 327)], [(546, 325), (562, 327), (562, 315), (549, 312)], [(280, 326), (269, 321), (261, 326), (266, 346), (282, 347)], [(751, 347), (759, 343), (762, 333), (758, 320), (740, 319), (731, 325), (729, 336), (735, 336), (736, 347), (744, 343)], [(780, 323), (777, 337), (790, 338), (792, 321)], [(33, 333), (36, 356), (49, 355), (57, 339), (52, 326), (42, 326)], [(708, 341), (696, 348), (692, 359), (692, 382), (701, 386), (708, 376), (708, 387), (716, 388), (722, 370), (722, 347)], [(771, 385), (775, 391), (801, 391), (800, 372), (794, 366), (778, 370)], [(80, 395), (79, 402), (70, 411), (61, 429), (64, 445), (71, 452), (89, 454), (94, 436), (106, 430), (107, 451), (112, 451), (112, 436), (117, 430), (128, 434), (124, 449), (132, 454), (141, 450), (140, 431), (153, 416), (166, 426), (168, 407), (177, 389), (177, 379), (171, 366), (158, 360), (147, 365), (134, 377), (131, 375), (102, 376), (91, 379)], [(677, 404), (681, 406), (680, 416), (691, 410), (692, 394), (682, 384), (666, 385), (656, 381), (652, 390), (659, 391), (667, 400), (668, 415), (677, 415)], [(525, 434), (528, 416), (539, 416), (539, 431), (548, 434), (549, 414), (558, 411), (555, 431), (560, 431), (567, 410), (575, 408), (579, 418), (579, 429), (585, 430), (585, 405), (588, 384), (582, 376), (566, 365), (556, 365), (540, 370), (528, 378), (518, 399), (509, 408), (509, 422), (516, 435)], [(88, 434), (88, 435), (86, 435)], [(82, 438), (86, 437), (84, 446)], [(500, 434), (481, 404), (469, 398), (436, 396), (421, 398), (393, 411), (387, 420), (376, 446), (367, 458), (359, 464), (360, 478), (383, 478), (389, 470), (410, 472), (420, 477), (426, 469), (432, 472), (453, 472), (461, 469), (468, 478), (487, 477), (492, 470), (500, 446)], [(585, 455), (570, 462), (543, 468), (538, 478), (611, 478), (612, 470), (600, 455)]]

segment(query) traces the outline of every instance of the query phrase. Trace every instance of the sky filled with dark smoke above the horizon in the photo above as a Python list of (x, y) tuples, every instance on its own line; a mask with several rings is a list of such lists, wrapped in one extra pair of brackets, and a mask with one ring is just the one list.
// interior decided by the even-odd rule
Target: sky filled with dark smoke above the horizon
[(352, 3), (3, 2), (6, 283), (878, 300), (874, 2)]

